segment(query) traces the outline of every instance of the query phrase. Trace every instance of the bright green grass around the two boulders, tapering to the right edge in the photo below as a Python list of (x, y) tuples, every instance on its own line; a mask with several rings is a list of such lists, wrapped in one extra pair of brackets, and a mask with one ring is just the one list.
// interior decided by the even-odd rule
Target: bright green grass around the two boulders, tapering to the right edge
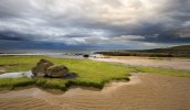
[[(116, 79), (126, 79), (130, 73), (156, 73), (163, 75), (173, 75), (180, 77), (190, 77), (190, 70), (179, 70), (171, 68), (155, 68), (141, 66), (124, 66), (120, 64), (110, 64), (94, 62), (89, 59), (52, 58), (48, 56), (3, 56), (0, 57), (0, 65), (9, 72), (30, 70), (41, 59), (46, 58), (54, 64), (64, 64), (71, 73), (77, 73), (80, 77), (75, 79), (51, 79), (51, 78), (3, 78), (0, 79), (0, 88), (14, 89), (35, 85), (41, 88), (66, 90), (71, 85), (92, 86), (103, 88), (105, 82)], [(14, 64), (14, 65), (11, 65)], [(3, 66), (9, 65), (9, 66)]]

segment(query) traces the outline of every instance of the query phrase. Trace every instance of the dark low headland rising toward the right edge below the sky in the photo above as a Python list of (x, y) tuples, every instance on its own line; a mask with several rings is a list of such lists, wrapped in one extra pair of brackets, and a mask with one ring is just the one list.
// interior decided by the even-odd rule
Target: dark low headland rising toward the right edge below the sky
[(147, 56), (147, 57), (190, 57), (190, 45), (172, 46), (167, 48), (139, 50), (139, 51), (110, 51), (96, 52), (108, 56)]

